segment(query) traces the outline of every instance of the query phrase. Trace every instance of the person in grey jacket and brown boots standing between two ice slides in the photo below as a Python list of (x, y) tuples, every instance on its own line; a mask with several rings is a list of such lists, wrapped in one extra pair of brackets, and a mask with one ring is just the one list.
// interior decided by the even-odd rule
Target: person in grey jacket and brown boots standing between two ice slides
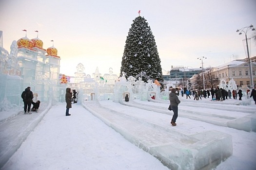
[(178, 104), (180, 103), (177, 95), (176, 95), (176, 89), (172, 88), (171, 93), (169, 94), (169, 100), (170, 100), (170, 106), (173, 110), (173, 118), (171, 120), (172, 126), (176, 126), (176, 119), (178, 117)]

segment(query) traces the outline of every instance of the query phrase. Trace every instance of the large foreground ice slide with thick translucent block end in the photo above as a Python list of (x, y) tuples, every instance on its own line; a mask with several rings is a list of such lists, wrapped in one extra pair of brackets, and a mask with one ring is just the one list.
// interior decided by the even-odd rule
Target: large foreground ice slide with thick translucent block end
[(232, 136), (218, 131), (185, 135), (85, 101), (83, 107), (128, 141), (158, 158), (172, 170), (209, 170), (233, 153)]

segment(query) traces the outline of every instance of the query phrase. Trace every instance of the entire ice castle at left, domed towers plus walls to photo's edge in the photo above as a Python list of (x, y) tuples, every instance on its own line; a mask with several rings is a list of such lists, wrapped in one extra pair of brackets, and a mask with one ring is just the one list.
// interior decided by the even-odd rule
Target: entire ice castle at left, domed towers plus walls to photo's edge
[[(0, 38), (2, 42), (2, 32)], [(25, 35), (18, 41), (13, 41), (10, 54), (3, 49), (1, 43), (1, 108), (12, 104), (20, 105), (20, 94), (28, 86), (36, 91), (35, 100), (47, 101), (49, 96), (59, 98), (59, 91), (54, 89), (59, 84), (59, 67), (57, 49), (54, 46), (44, 49), (38, 36), (29, 39)]]

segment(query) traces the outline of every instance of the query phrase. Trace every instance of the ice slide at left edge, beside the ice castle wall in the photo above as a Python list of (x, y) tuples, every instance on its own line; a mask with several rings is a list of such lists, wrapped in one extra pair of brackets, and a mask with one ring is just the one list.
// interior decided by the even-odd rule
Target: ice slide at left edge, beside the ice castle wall
[(0, 121), (0, 169), (20, 148), (23, 141), (35, 129), (44, 115), (52, 107), (52, 99), (40, 104), (39, 113), (24, 115), (24, 111)]

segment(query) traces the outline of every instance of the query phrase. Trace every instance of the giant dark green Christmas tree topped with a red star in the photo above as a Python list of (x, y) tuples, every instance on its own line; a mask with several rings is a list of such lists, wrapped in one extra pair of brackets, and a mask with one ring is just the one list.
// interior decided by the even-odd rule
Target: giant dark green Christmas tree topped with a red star
[[(140, 12), (139, 12), (140, 13)], [(126, 38), (120, 76), (126, 73), (126, 78), (146, 74), (159, 82), (163, 81), (160, 58), (150, 26), (144, 17), (138, 16), (133, 20), (132, 27)], [(146, 78), (142, 78), (147, 81)]]

